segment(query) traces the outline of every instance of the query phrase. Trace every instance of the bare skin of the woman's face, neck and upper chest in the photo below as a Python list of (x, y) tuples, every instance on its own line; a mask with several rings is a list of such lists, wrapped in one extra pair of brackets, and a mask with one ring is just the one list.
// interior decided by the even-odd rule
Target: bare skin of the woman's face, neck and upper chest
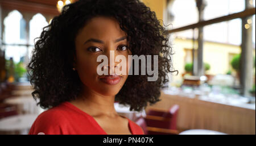
[[(117, 20), (97, 16), (85, 24), (75, 39), (76, 56), (73, 66), (82, 82), (82, 91), (71, 103), (91, 115), (107, 134), (131, 134), (128, 120), (118, 115), (114, 109), (115, 95), (125, 84), (128, 75), (121, 75), (121, 81), (117, 85), (105, 84), (100, 80), (101, 76), (97, 74), (97, 66), (101, 64), (97, 62), (97, 57), (106, 55), (110, 59), (110, 51), (114, 51), (115, 56), (125, 56), (126, 74), (128, 74), (127, 61), (131, 52), (125, 47), (128, 42), (123, 37), (126, 36)], [(101, 42), (88, 41), (90, 39), (97, 39)], [(118, 64), (119, 62), (115, 62), (114, 66), (109, 64), (109, 73), (114, 72)]]

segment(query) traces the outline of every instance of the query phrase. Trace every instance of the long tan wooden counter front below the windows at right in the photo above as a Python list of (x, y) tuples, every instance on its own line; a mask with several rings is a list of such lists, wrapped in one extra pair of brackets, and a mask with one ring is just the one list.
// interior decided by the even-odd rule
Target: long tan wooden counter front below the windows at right
[(148, 106), (168, 110), (179, 105), (177, 128), (181, 130), (204, 129), (226, 134), (255, 134), (255, 103), (232, 102), (230, 99), (209, 100), (162, 91), (161, 101)]

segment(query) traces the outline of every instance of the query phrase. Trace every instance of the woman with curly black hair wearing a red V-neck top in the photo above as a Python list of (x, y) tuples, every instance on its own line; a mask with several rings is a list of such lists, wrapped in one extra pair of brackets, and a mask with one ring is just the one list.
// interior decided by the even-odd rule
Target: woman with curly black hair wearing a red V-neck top
[[(122, 55), (126, 73), (100, 75), (98, 56)], [(159, 55), (158, 78), (127, 75), (129, 55)], [(159, 101), (172, 72), (171, 47), (155, 12), (138, 0), (84, 0), (64, 6), (36, 41), (28, 64), (35, 99), (48, 109), (29, 134), (144, 134), (114, 102), (141, 111)], [(153, 64), (153, 62), (152, 62)], [(108, 69), (115, 72), (118, 62)], [(113, 70), (114, 68), (114, 70)]]

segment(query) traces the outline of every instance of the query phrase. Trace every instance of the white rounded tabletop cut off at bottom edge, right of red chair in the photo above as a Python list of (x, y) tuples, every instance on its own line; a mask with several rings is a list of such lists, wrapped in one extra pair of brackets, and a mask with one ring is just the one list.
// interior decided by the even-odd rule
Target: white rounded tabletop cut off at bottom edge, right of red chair
[(180, 132), (179, 135), (226, 135), (225, 133), (213, 130), (187, 130)]

